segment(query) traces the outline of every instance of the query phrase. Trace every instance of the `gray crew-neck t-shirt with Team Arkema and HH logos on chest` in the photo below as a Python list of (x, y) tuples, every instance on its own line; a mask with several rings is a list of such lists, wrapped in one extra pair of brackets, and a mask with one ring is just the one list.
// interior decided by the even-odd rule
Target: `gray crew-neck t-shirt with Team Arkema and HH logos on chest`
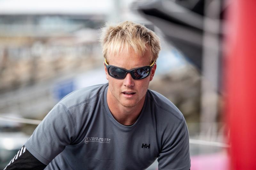
[(64, 97), (37, 126), (25, 146), (45, 169), (190, 168), (189, 136), (177, 107), (148, 90), (137, 121), (118, 123), (107, 104), (108, 84), (76, 90)]

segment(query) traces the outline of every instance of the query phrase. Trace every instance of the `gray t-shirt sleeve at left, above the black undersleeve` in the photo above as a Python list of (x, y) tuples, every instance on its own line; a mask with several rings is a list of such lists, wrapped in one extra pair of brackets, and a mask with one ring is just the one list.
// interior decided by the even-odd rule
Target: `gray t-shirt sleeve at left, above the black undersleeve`
[(75, 124), (68, 109), (58, 103), (36, 127), (25, 143), (28, 151), (48, 165), (76, 136)]

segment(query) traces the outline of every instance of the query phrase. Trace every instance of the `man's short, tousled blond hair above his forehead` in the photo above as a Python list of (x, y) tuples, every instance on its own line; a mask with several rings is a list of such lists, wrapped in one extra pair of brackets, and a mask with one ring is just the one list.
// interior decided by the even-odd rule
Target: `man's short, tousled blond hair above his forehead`
[(127, 50), (131, 47), (135, 53), (142, 56), (149, 48), (152, 56), (150, 61), (156, 61), (160, 47), (160, 40), (157, 35), (144, 25), (131, 21), (124, 21), (117, 25), (107, 23), (101, 29), (100, 42), (103, 56), (108, 60), (109, 55), (115, 55), (119, 51)]

